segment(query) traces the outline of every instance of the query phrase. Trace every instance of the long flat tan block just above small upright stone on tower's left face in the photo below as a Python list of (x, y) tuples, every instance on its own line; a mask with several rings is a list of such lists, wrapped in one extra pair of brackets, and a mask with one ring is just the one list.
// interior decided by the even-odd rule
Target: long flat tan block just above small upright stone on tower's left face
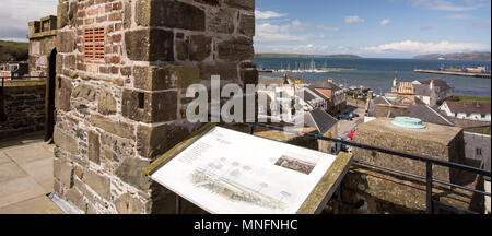
[(133, 126), (129, 123), (115, 121), (113, 119), (105, 118), (98, 115), (92, 115), (91, 122), (93, 126), (98, 127), (106, 132), (113, 133), (117, 137), (125, 139), (134, 139)]

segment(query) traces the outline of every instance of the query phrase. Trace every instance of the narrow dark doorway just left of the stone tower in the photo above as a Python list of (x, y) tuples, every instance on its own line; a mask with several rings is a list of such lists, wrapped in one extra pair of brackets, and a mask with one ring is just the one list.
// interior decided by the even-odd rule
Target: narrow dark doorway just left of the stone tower
[(48, 76), (46, 78), (46, 99), (45, 99), (45, 142), (52, 138), (55, 128), (55, 79), (57, 76), (57, 49), (52, 49), (49, 55)]

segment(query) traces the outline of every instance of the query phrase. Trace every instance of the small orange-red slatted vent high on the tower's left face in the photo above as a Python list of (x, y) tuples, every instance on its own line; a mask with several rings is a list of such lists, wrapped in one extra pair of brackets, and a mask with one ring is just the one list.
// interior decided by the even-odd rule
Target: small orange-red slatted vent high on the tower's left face
[(106, 28), (94, 27), (84, 30), (84, 58), (86, 60), (104, 60)]

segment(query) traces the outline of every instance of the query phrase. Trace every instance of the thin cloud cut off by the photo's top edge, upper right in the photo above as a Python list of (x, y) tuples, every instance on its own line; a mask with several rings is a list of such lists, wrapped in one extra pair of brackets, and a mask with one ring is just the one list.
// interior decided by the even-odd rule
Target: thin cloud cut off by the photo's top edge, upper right
[(456, 4), (449, 0), (408, 0), (408, 2), (413, 7), (421, 5), (425, 9), (440, 11), (470, 11), (482, 5), (472, 0), (465, 1), (465, 4)]

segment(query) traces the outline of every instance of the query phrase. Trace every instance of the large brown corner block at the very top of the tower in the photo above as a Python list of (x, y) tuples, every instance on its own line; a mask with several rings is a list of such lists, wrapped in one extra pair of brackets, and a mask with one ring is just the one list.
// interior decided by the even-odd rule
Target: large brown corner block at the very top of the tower
[(203, 10), (184, 2), (159, 0), (137, 2), (136, 22), (142, 26), (204, 31), (204, 17)]

